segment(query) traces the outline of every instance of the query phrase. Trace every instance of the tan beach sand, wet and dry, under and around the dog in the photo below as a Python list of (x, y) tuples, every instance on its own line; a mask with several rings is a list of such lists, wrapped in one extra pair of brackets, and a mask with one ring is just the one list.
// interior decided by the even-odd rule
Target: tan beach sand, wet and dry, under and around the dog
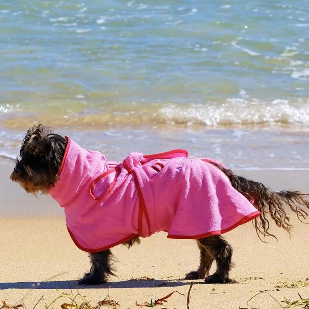
[[(77, 293), (76, 280), (89, 270), (85, 252), (75, 247), (67, 233), (60, 207), (49, 197), (35, 198), (25, 194), (8, 179), (11, 166), (0, 165), (0, 300), (14, 304), (23, 302), (33, 308), (45, 308), (61, 293)], [(278, 189), (306, 191), (307, 171), (237, 171), (250, 178)], [(309, 190), (308, 190), (309, 191)], [(277, 308), (276, 301), (260, 291), (268, 291), (279, 302), (284, 298), (296, 299), (298, 293), (309, 297), (308, 244), (309, 226), (298, 223), (291, 237), (285, 231), (273, 227), (278, 242), (269, 239), (262, 243), (251, 223), (225, 234), (233, 246), (231, 271), (234, 284), (206, 285), (194, 281), (190, 308)], [(158, 308), (186, 308), (187, 293), (191, 281), (184, 281), (184, 274), (195, 270), (199, 264), (199, 252), (192, 240), (167, 239), (162, 232), (142, 239), (139, 246), (130, 250), (123, 246), (113, 248), (117, 256), (118, 277), (112, 277), (102, 286), (79, 286), (79, 293), (95, 305), (104, 299), (118, 301), (120, 308), (137, 308), (135, 302), (150, 302), (173, 291), (167, 303)], [(141, 277), (153, 280), (136, 280)], [(301, 280), (307, 286), (291, 286)], [(287, 282), (287, 283), (286, 283)], [(279, 286), (279, 287), (277, 287)], [(110, 289), (109, 289), (110, 287)], [(67, 299), (60, 299), (54, 306)], [(284, 306), (285, 304), (282, 303)]]

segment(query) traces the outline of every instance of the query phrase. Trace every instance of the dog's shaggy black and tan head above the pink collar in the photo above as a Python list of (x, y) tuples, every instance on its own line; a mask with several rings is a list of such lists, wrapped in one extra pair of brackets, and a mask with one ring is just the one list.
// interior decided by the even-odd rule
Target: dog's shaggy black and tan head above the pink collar
[(11, 180), (18, 182), (28, 193), (47, 194), (58, 181), (66, 146), (67, 138), (47, 126), (34, 125), (24, 138)]

